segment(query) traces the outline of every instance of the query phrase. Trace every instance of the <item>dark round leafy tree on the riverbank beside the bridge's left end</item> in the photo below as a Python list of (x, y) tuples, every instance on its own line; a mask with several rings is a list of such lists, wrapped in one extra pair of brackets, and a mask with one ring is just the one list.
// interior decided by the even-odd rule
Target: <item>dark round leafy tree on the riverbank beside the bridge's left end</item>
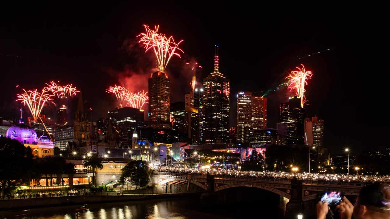
[(130, 161), (123, 169), (121, 175), (121, 183), (124, 184), (126, 180), (132, 185), (142, 187), (149, 182), (149, 168), (146, 161)]

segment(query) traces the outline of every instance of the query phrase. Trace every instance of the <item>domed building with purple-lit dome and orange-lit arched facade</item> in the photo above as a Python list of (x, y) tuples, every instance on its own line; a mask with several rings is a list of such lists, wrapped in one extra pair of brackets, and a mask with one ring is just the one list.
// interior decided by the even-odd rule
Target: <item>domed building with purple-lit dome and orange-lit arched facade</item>
[(11, 138), (12, 140), (19, 141), (25, 147), (29, 146), (35, 157), (53, 156), (53, 142), (51, 142), (46, 136), (38, 138), (37, 132), (35, 132), (32, 127), (25, 125), (22, 112), (23, 111), (20, 108), (19, 124), (10, 127), (5, 136), (7, 136), (7, 138)]

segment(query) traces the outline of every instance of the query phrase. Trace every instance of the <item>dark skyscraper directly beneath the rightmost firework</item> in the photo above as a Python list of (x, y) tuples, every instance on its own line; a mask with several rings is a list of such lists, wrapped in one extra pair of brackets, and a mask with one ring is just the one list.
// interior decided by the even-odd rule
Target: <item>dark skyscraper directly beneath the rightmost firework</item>
[(287, 124), (287, 132), (280, 130), (278, 132), (287, 134), (287, 136), (283, 136), (287, 140), (287, 145), (303, 145), (305, 132), (304, 114), (299, 97), (289, 97), (289, 102), (280, 105), (280, 123)]

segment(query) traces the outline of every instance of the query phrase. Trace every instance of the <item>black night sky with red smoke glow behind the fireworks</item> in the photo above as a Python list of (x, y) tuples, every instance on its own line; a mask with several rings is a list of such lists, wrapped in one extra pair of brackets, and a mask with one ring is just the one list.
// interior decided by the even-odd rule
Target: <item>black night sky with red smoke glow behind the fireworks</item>
[[(385, 15), (341, 10), (271, 13), (250, 5), (112, 4), (34, 5), (4, 11), (0, 117), (15, 115), (20, 88), (42, 88), (51, 80), (73, 83), (82, 90), (93, 117), (105, 117), (115, 105), (105, 93), (108, 86), (147, 90), (155, 59), (144, 53), (136, 36), (144, 31), (142, 24), (160, 24), (159, 32), (184, 39), (182, 58), (172, 58), (166, 71), (172, 102), (184, 101), (184, 93), (190, 91), (192, 73), (185, 63), (199, 62), (203, 69), (198, 78), (203, 78), (213, 71), (218, 44), (220, 71), (230, 79), (230, 126), (236, 125), (237, 92), (265, 92), (304, 64), (313, 71), (306, 86), (311, 103), (306, 114), (325, 120), (325, 145), (332, 154), (342, 153), (346, 146), (359, 151), (388, 145)], [(276, 128), (278, 107), (291, 95), (283, 88), (267, 96), (268, 127)], [(71, 111), (76, 102), (68, 104)], [(45, 113), (53, 114), (53, 109)]]

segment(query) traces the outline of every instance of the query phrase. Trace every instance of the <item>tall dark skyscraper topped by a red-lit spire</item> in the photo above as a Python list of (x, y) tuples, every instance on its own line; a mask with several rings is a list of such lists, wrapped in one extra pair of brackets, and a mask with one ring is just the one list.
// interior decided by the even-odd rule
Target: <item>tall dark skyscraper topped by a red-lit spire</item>
[[(218, 47), (216, 47), (218, 49)], [(206, 143), (229, 140), (230, 80), (219, 72), (218, 50), (214, 56), (214, 71), (203, 79), (202, 141)]]

